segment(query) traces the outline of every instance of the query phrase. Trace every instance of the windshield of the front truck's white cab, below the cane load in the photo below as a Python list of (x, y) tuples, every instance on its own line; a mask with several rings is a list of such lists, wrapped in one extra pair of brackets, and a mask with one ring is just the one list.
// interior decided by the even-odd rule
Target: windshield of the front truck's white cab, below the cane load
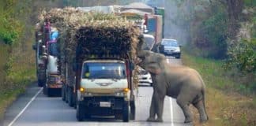
[(83, 65), (82, 78), (84, 79), (124, 79), (125, 77), (124, 63), (90, 62)]

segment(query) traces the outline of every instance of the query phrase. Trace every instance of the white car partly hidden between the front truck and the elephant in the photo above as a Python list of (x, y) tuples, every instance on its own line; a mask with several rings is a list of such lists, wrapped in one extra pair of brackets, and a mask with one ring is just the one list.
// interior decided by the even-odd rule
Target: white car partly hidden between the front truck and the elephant
[(149, 72), (145, 71), (145, 69), (139, 68), (139, 86), (152, 86), (152, 79)]

